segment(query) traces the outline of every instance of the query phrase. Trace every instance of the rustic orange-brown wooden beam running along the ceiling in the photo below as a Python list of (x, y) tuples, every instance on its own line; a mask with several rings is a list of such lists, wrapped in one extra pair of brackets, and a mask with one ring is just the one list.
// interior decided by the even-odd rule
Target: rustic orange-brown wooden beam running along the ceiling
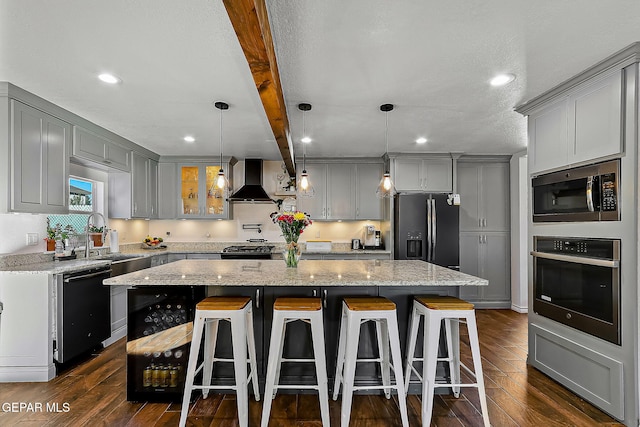
[(262, 100), (280, 155), (295, 176), (293, 144), (264, 0), (223, 0)]

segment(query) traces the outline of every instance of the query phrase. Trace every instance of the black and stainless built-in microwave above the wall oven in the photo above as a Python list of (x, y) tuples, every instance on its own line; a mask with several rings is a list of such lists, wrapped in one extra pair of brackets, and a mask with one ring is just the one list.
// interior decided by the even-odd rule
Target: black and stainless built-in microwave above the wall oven
[(620, 160), (532, 179), (533, 222), (619, 221)]

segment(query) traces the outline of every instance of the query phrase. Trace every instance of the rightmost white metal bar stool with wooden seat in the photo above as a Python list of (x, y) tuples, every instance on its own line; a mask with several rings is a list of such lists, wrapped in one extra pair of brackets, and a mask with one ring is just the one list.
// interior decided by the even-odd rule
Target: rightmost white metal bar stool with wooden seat
[[(424, 316), (424, 344), (423, 357), (415, 357), (418, 326)], [(440, 324), (444, 320), (447, 344), (447, 357), (438, 358), (440, 345)], [(456, 322), (454, 324), (454, 322)], [(469, 345), (473, 357), (473, 371), (460, 361), (458, 323), (466, 323), (469, 332)], [(456, 349), (454, 350), (454, 339)], [(415, 362), (422, 363), (422, 375), (413, 366)], [(449, 364), (450, 382), (436, 383), (436, 367), (438, 362)], [(475, 378), (475, 383), (460, 382), (460, 368)], [(450, 296), (415, 297), (409, 326), (409, 344), (407, 349), (407, 366), (405, 369), (405, 387), (409, 388), (411, 373), (414, 373), (422, 383), (422, 425), (428, 426), (433, 412), (433, 397), (435, 389), (449, 386), (455, 397), (460, 395), (460, 387), (475, 387), (480, 395), (480, 408), (485, 426), (489, 426), (489, 412), (487, 397), (484, 389), (482, 363), (480, 361), (480, 344), (476, 327), (476, 315), (473, 304)]]

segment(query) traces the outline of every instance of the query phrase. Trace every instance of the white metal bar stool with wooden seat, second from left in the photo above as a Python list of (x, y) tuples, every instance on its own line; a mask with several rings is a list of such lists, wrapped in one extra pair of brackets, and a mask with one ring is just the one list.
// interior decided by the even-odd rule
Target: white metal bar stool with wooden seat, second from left
[[(287, 323), (303, 321), (311, 325), (313, 341), (313, 359), (284, 359), (284, 335)], [(282, 362), (315, 362), (317, 385), (280, 385), (280, 367)], [(271, 343), (269, 344), (269, 361), (267, 378), (262, 404), (262, 427), (267, 427), (271, 413), (271, 400), (278, 389), (311, 389), (318, 390), (322, 425), (329, 426), (329, 392), (327, 385), (327, 363), (324, 353), (324, 327), (322, 320), (322, 303), (320, 298), (277, 298), (273, 304), (273, 324), (271, 327)]]

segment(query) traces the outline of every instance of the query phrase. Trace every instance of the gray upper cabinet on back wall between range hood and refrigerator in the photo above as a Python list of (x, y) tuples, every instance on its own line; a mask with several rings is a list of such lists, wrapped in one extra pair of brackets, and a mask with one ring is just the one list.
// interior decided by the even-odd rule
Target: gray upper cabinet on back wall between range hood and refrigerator
[(376, 197), (376, 188), (382, 169), (382, 162), (307, 160), (315, 196), (298, 198), (297, 209), (314, 221), (380, 220), (382, 201)]

